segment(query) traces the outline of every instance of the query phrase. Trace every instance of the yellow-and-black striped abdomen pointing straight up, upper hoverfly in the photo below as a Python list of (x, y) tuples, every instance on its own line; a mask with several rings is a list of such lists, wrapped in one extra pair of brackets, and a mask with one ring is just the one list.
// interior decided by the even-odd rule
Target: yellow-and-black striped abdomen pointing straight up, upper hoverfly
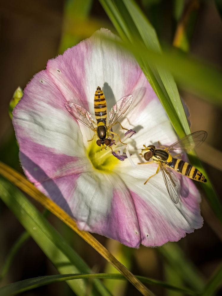
[(95, 111), (97, 124), (99, 122), (104, 122), (104, 124), (106, 124), (106, 118), (107, 118), (106, 99), (102, 89), (99, 86), (97, 87), (95, 92), (94, 111)]

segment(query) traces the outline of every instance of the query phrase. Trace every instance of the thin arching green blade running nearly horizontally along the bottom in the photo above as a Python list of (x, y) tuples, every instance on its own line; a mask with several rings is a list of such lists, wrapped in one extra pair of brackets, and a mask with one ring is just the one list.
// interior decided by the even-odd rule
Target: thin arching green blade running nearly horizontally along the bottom
[[(175, 287), (164, 283), (163, 281), (157, 281), (154, 279), (146, 278), (144, 276), (136, 276), (142, 282), (146, 284), (161, 286), (166, 289), (182, 292), (188, 295), (195, 295), (195, 293), (186, 288)], [(37, 278), (27, 279), (24, 281), (18, 281), (13, 284), (9, 284), (0, 288), (1, 296), (15, 295), (24, 291), (28, 291), (37, 287), (41, 287), (47, 284), (52, 284), (60, 281), (70, 281), (77, 279), (119, 279), (124, 280), (124, 276), (115, 273), (95, 273), (95, 274), (61, 274), (53, 276), (39, 276)]]

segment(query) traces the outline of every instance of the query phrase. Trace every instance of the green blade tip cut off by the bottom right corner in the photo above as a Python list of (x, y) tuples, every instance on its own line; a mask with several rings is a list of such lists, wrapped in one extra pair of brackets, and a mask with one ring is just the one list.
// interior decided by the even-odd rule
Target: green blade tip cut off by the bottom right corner
[(222, 264), (217, 268), (211, 277), (210, 281), (204, 288), (204, 292), (201, 293), (202, 296), (213, 296), (217, 290), (222, 286)]

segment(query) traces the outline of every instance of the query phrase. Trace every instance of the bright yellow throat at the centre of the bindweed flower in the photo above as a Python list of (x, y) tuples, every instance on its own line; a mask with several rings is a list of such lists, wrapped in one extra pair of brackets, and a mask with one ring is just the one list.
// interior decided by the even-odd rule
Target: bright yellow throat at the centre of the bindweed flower
[(94, 141), (92, 141), (88, 146), (86, 154), (93, 167), (99, 171), (110, 173), (115, 165), (120, 162), (120, 160), (112, 155), (112, 151), (109, 147), (107, 147), (107, 150), (101, 150), (101, 148), (96, 145), (96, 142)]

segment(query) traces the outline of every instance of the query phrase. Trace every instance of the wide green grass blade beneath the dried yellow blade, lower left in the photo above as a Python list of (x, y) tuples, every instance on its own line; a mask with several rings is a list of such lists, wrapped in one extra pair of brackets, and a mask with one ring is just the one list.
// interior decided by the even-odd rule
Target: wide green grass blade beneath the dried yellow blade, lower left
[[(0, 177), (0, 197), (60, 273), (90, 272), (90, 268), (82, 258), (23, 193), (2, 177)], [(77, 295), (85, 295), (87, 283), (84, 280), (69, 281), (68, 284)], [(99, 281), (95, 282), (95, 286), (96, 291), (93, 295), (110, 295)]]

